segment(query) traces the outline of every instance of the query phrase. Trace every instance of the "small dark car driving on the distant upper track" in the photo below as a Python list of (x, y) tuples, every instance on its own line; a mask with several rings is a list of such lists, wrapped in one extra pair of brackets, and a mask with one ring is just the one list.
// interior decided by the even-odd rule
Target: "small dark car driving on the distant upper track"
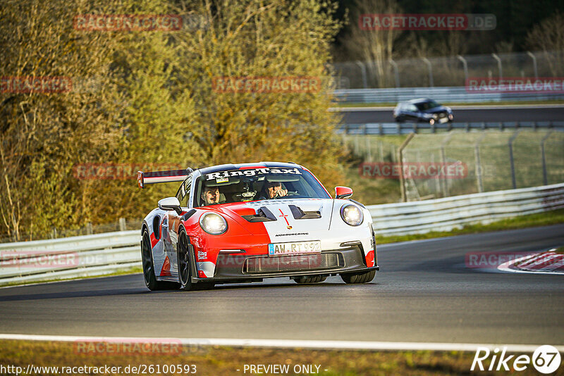
[(454, 116), (450, 107), (442, 106), (432, 99), (419, 98), (398, 103), (393, 110), (393, 118), (398, 123), (424, 121), (433, 125), (452, 122)]

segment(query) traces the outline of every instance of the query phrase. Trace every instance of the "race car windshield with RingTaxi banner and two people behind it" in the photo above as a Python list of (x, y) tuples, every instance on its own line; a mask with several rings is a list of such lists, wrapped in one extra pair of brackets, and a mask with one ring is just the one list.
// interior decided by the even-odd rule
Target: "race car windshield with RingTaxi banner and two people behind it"
[(200, 176), (195, 186), (195, 206), (218, 203), (331, 196), (308, 171), (301, 168), (244, 168)]

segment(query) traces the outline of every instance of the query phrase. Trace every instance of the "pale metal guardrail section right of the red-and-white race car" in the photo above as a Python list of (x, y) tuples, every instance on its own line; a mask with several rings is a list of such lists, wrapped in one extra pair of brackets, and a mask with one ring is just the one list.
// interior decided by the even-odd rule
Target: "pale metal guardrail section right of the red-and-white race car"
[(517, 215), (564, 208), (564, 184), (367, 206), (376, 235), (450, 231)]

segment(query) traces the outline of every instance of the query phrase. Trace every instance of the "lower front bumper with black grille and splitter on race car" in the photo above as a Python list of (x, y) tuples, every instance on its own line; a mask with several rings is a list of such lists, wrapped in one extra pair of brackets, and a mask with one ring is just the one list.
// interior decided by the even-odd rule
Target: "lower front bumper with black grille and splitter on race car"
[[(375, 253), (375, 251), (374, 251)], [(192, 277), (192, 282), (253, 282), (263, 278), (300, 275), (333, 275), (379, 270), (367, 267), (362, 245), (299, 255), (268, 256), (247, 253), (220, 253), (213, 277)], [(192, 275), (195, 275), (192, 273)]]

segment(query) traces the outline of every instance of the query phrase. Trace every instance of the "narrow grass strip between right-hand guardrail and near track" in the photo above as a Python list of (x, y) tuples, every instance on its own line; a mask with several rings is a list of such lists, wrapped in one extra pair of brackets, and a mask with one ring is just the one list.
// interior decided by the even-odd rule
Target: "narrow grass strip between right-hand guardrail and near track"
[[(390, 237), (378, 237), (378, 244), (407, 242), (410, 240), (432, 239), (436, 237), (452, 237), (462, 234), (477, 234), (479, 232), (517, 230), (527, 227), (539, 227), (564, 223), (564, 209), (546, 211), (544, 213), (521, 215), (489, 223), (488, 225), (466, 225), (453, 231), (433, 231), (425, 234), (400, 235)], [(376, 234), (377, 236), (377, 234)]]

